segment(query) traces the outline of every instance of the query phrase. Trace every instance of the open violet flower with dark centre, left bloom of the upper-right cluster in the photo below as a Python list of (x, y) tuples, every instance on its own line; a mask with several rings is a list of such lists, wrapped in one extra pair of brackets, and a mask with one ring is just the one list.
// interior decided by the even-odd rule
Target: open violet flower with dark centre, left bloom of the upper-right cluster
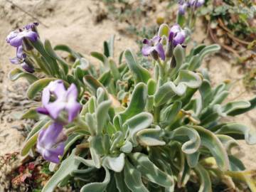
[(164, 48), (161, 44), (161, 37), (154, 36), (154, 38), (151, 38), (150, 40), (145, 38), (143, 43), (145, 46), (142, 48), (142, 55), (148, 56), (151, 54), (155, 60), (158, 60), (159, 57), (161, 60), (165, 60)]

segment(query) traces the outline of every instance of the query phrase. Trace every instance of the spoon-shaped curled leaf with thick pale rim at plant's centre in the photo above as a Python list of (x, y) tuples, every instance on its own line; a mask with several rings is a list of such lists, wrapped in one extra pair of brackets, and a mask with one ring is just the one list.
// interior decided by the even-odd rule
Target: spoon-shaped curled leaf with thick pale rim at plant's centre
[(129, 129), (129, 137), (134, 145), (137, 145), (136, 134), (142, 129), (146, 129), (153, 122), (153, 116), (149, 112), (141, 112), (125, 122)]

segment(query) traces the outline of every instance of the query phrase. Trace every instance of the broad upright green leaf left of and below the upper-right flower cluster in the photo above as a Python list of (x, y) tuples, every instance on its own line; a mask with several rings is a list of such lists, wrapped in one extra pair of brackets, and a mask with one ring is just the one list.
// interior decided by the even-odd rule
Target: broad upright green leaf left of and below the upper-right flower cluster
[(141, 65), (138, 64), (134, 53), (132, 53), (132, 50), (129, 50), (129, 49), (125, 50), (124, 57), (127, 61), (129, 70), (131, 70), (132, 75), (134, 76), (135, 82), (147, 83), (147, 81), (151, 78), (151, 75), (148, 70), (146, 70), (145, 68), (143, 68)]

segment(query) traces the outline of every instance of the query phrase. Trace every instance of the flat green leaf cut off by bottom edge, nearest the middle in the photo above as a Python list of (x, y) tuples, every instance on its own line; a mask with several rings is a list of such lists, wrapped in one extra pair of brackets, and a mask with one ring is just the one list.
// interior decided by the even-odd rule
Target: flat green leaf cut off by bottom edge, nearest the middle
[(149, 192), (142, 183), (142, 174), (129, 161), (124, 164), (124, 182), (132, 192)]

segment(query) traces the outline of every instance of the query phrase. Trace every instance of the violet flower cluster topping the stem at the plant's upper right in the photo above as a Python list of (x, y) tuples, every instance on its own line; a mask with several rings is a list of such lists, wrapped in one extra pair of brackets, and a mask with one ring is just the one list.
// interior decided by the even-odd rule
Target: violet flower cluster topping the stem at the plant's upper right
[(186, 32), (179, 26), (175, 24), (169, 29), (168, 42), (166, 44), (166, 53), (164, 53), (164, 45), (162, 43), (162, 37), (154, 36), (154, 38), (144, 39), (143, 43), (145, 46), (142, 48), (142, 55), (148, 56), (151, 55), (154, 60), (158, 60), (159, 57), (161, 60), (165, 60), (166, 56), (171, 57), (172, 51), (177, 45), (182, 45), (186, 39)]

